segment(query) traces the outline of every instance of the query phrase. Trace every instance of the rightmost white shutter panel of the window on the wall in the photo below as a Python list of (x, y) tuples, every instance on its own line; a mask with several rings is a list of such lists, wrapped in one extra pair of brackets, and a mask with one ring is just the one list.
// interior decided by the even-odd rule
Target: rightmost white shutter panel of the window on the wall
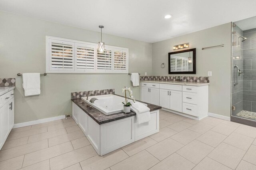
[(126, 71), (127, 53), (124, 51), (114, 51), (114, 70)]

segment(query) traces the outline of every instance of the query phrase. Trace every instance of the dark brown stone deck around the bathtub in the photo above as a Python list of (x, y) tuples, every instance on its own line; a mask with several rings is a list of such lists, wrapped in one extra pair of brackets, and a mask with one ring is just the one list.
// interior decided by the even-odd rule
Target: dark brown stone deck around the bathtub
[[(81, 98), (71, 99), (71, 101), (73, 101), (76, 105), (78, 105), (78, 107), (80, 107), (80, 109), (82, 109), (87, 115), (89, 115), (99, 125), (102, 125), (102, 124), (108, 123), (108, 122), (112, 122), (112, 121), (117, 121), (120, 119), (124, 119), (126, 117), (132, 117), (132, 116), (136, 115), (136, 113), (134, 113), (133, 111), (131, 111), (130, 113), (120, 112), (120, 113), (115, 113), (112, 115), (105, 115), (104, 113), (100, 112), (99, 110), (95, 109), (94, 107), (92, 107), (92, 109), (89, 109), (88, 107), (86, 107), (88, 104), (85, 102), (84, 102), (84, 104), (82, 104), (83, 100)], [(142, 103), (145, 103), (145, 102), (142, 102)], [(146, 103), (146, 104), (150, 108), (150, 111), (155, 111), (155, 110), (162, 108), (157, 105), (152, 105), (149, 103)]]

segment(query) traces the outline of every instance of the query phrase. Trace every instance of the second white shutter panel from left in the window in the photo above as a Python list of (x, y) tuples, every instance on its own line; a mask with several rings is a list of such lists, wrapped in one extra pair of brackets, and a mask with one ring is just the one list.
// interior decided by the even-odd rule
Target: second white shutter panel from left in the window
[(76, 43), (76, 70), (93, 71), (95, 69), (95, 48), (92, 45)]

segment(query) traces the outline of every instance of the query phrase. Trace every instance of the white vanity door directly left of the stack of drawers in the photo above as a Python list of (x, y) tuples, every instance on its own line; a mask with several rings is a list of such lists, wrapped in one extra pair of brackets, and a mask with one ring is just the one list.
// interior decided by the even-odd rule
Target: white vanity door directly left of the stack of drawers
[(182, 91), (170, 91), (170, 109), (182, 112)]

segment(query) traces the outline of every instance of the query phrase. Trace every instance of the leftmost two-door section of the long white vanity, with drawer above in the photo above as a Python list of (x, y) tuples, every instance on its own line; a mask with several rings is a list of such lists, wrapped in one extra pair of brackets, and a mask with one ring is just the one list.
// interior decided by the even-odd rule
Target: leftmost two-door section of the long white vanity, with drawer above
[(159, 105), (159, 84), (142, 83), (141, 86), (141, 100), (153, 105)]

